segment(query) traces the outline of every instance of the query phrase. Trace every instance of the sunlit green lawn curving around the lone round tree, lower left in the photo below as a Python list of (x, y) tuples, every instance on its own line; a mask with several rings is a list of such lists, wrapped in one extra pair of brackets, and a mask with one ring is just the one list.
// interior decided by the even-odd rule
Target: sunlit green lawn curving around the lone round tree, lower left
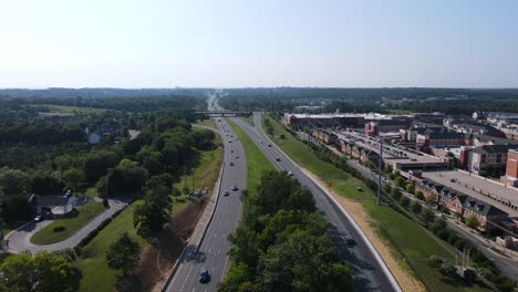
[(122, 211), (92, 242), (83, 248), (81, 257), (76, 261), (76, 265), (83, 274), (80, 291), (115, 291), (116, 277), (122, 272), (107, 268), (106, 252), (121, 233), (127, 231), (133, 239), (138, 241), (142, 248), (147, 244), (144, 239), (136, 234), (133, 227), (133, 211), (139, 204), (142, 201), (135, 201)]

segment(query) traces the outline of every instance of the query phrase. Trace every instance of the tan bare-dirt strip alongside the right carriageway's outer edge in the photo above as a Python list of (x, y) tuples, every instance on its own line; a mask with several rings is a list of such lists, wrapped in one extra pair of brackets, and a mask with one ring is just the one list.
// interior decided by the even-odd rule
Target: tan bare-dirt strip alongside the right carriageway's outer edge
[[(308, 169), (302, 168), (302, 170), (311, 176), (315, 181), (321, 186), (325, 186), (325, 182), (319, 179)], [(360, 228), (363, 230), (365, 236), (372, 242), (376, 251), (385, 261), (386, 265), (391, 270), (392, 274), (396, 279), (397, 283), (401, 285), (403, 291), (426, 291), (426, 288), (418, 280), (414, 279), (408, 272), (405, 271), (404, 267), (401, 264), (401, 260), (397, 260), (391, 252), (391, 249), (376, 236), (374, 228), (371, 226), (372, 220), (366, 211), (363, 209), (361, 202), (344, 198), (333, 190), (330, 191), (338, 202), (344, 208), (356, 221)]]

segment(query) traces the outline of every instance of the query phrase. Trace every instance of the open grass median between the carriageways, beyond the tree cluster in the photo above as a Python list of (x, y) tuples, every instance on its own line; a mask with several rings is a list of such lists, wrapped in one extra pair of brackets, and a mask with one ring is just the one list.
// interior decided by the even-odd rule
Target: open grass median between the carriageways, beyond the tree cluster
[(262, 174), (274, 170), (274, 168), (239, 126), (232, 122), (230, 122), (230, 126), (245, 148), (245, 156), (247, 158), (247, 189), (248, 191), (256, 191), (261, 182)]

